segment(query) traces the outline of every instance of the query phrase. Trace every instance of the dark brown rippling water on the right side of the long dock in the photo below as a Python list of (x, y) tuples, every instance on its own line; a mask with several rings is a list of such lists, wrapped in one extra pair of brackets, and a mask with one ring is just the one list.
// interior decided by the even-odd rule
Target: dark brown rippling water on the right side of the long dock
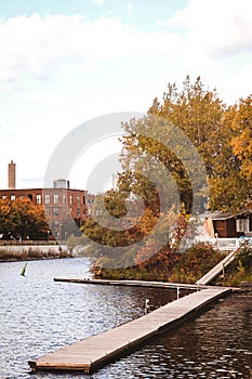
[(123, 378), (128, 374), (129, 378), (249, 379), (252, 377), (251, 330), (252, 295), (233, 295), (103, 373), (118, 379), (120, 369)]

